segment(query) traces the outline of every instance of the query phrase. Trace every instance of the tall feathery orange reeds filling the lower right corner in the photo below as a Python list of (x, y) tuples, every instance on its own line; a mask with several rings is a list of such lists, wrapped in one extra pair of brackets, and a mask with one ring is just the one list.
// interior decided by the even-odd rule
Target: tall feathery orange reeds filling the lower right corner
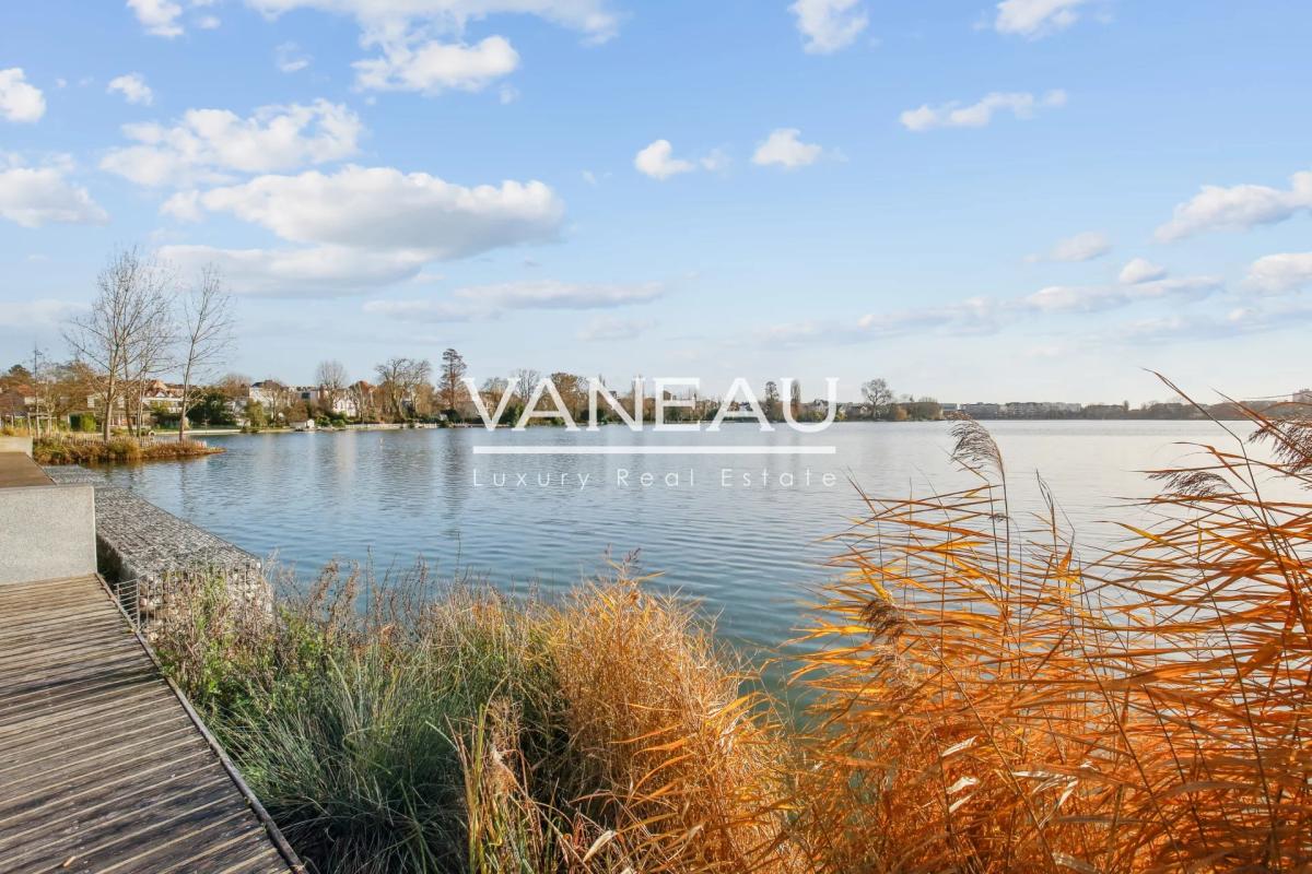
[(1312, 865), (1307, 421), (1165, 472), (1162, 519), (1088, 566), (1022, 531), (974, 422), (980, 485), (869, 502), (810, 632), (829, 871), (1303, 871)]

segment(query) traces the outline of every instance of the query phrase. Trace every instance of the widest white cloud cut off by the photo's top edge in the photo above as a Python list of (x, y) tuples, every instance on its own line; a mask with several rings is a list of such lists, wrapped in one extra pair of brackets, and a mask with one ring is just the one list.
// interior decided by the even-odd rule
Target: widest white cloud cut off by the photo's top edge
[(619, 17), (606, 0), (245, 0), (248, 7), (268, 16), (293, 9), (353, 16), (367, 34), (391, 30), (394, 34), (422, 22), (459, 33), (470, 21), (495, 14), (531, 14), (564, 28), (583, 31), (601, 42), (613, 37)]

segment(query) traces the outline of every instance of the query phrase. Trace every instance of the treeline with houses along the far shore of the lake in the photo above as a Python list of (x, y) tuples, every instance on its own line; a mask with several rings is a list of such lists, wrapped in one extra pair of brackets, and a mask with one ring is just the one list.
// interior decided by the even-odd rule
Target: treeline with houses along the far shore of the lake
[[(41, 435), (55, 431), (140, 435), (156, 428), (176, 430), (185, 442), (189, 427), (261, 430), (270, 427), (345, 426), (348, 423), (430, 423), (438, 426), (480, 421), (471, 390), (468, 366), (455, 349), (442, 352), (434, 367), (419, 356), (392, 356), (373, 372), (349, 375), (341, 362), (323, 360), (310, 385), (278, 379), (256, 380), (224, 372), (235, 346), (232, 296), (218, 269), (205, 267), (182, 276), (171, 265), (138, 249), (114, 253), (96, 279), (96, 296), (83, 314), (64, 329), (67, 356), (34, 349), (28, 360), (0, 373), (0, 427)], [(600, 377), (598, 377), (600, 379)], [(554, 389), (542, 397), (546, 381)], [(605, 380), (602, 380), (605, 383)], [(588, 421), (589, 377), (564, 371), (543, 373), (520, 368), (489, 376), (478, 385), (484, 409), (499, 409), (501, 422), (518, 421), (533, 404), (534, 411), (562, 406), (577, 421)], [(782, 389), (781, 389), (782, 385)], [(828, 400), (811, 400), (799, 383), (766, 381), (754, 388), (752, 401), (770, 421), (821, 422)], [(621, 409), (636, 418), (639, 404), (632, 385), (613, 390)], [(535, 402), (537, 398), (537, 402)], [(750, 402), (703, 396), (693, 389), (663, 393), (664, 421), (701, 422)], [(1300, 400), (1245, 401), (1244, 408), (1282, 417)], [(656, 398), (643, 392), (642, 414), (653, 421)], [(1185, 398), (1144, 404), (1080, 405), (1068, 402), (946, 404), (932, 396), (893, 390), (883, 379), (861, 384), (858, 401), (837, 402), (834, 421), (925, 422), (943, 418), (976, 419), (1197, 419), (1244, 418), (1240, 404), (1197, 406)], [(614, 422), (617, 410), (602, 405), (600, 422)], [(556, 419), (559, 422), (560, 419)], [(550, 425), (551, 418), (534, 418)]]

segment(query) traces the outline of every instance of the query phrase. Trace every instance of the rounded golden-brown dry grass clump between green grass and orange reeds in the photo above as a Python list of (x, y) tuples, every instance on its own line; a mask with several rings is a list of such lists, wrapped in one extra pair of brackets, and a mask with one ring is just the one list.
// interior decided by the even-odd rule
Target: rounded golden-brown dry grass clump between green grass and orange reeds
[(585, 587), (555, 615), (575, 790), (635, 870), (808, 870), (785, 840), (779, 725), (710, 626), (640, 582)]

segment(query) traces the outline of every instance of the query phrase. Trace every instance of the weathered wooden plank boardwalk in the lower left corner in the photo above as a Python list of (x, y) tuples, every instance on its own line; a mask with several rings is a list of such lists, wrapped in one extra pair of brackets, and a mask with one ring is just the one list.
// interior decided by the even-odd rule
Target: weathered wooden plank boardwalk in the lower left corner
[(0, 586), (0, 871), (300, 870), (94, 577)]

